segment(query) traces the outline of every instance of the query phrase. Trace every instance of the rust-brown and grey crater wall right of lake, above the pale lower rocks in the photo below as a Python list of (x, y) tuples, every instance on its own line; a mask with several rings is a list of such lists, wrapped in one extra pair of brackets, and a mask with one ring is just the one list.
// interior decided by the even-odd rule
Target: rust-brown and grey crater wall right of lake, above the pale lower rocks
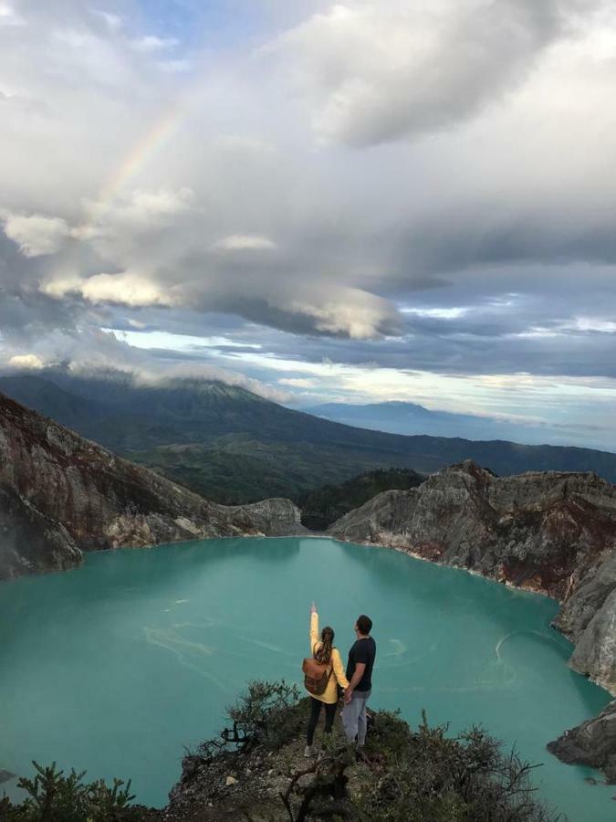
[(385, 491), (330, 532), (565, 600), (613, 553), (616, 491), (595, 474), (499, 478), (467, 460), (418, 488)]

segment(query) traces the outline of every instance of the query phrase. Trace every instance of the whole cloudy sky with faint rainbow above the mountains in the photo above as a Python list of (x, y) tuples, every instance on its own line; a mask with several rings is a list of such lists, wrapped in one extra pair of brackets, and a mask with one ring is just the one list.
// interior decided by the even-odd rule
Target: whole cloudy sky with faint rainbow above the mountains
[(0, 0), (0, 368), (616, 450), (616, 7)]

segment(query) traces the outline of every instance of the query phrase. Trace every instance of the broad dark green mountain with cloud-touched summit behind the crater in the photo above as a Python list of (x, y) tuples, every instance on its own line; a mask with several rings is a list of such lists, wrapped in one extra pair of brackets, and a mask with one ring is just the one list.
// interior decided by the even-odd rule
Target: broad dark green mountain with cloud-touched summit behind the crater
[(129, 376), (64, 372), (0, 377), (0, 391), (122, 456), (224, 503), (308, 490), (365, 471), (432, 473), (473, 458), (507, 475), (592, 470), (616, 480), (616, 455), (589, 448), (403, 437), (295, 411), (244, 388), (203, 380), (141, 385)]

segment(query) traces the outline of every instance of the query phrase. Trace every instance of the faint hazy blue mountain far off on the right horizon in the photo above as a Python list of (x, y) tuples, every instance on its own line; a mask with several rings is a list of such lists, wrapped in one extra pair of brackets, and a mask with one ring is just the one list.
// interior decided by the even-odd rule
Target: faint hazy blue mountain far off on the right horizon
[(326, 403), (305, 410), (347, 426), (407, 436), (429, 434), (435, 437), (506, 439), (527, 445), (546, 445), (549, 439), (559, 442), (564, 438), (546, 424), (531, 425), (489, 416), (430, 411), (416, 403)]

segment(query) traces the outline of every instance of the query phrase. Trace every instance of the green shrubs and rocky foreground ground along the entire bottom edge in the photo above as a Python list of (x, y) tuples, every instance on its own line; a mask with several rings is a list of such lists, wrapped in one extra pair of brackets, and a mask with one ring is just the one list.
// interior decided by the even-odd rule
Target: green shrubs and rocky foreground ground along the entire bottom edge
[(339, 728), (303, 756), (308, 698), (285, 682), (250, 682), (227, 709), (231, 728), (183, 758), (162, 810), (131, 806), (131, 783), (83, 783), (56, 765), (20, 781), (28, 797), (0, 800), (2, 822), (557, 822), (533, 797), (532, 766), (481, 728), (457, 737), (426, 721), (376, 711), (358, 754)]

